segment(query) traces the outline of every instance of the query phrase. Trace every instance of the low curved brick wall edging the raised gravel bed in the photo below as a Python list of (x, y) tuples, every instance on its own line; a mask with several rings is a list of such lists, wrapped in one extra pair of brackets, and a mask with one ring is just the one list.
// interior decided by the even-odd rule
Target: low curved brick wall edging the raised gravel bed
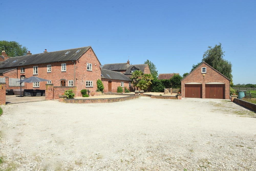
[[(105, 94), (105, 93), (104, 93)], [(65, 103), (111, 103), (111, 102), (118, 102), (118, 101), (125, 101), (131, 100), (135, 98), (139, 98), (139, 95), (132, 95), (128, 97), (115, 97), (115, 98), (99, 98), (99, 99), (63, 99)]]

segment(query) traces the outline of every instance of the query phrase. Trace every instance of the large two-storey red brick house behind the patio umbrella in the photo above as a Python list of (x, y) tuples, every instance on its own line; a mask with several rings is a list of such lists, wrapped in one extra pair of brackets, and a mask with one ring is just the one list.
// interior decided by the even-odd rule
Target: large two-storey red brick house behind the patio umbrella
[(46, 89), (46, 84), (53, 84), (63, 88), (63, 91), (72, 88), (76, 90), (76, 96), (81, 96), (81, 89), (95, 91), (96, 82), (101, 79), (101, 64), (90, 46), (55, 52), (47, 52), (45, 49), (39, 54), (28, 51), (25, 56), (13, 58), (8, 57), (4, 51), (1, 54), (0, 77), (37, 76), (50, 80), (25, 83), (26, 89)]

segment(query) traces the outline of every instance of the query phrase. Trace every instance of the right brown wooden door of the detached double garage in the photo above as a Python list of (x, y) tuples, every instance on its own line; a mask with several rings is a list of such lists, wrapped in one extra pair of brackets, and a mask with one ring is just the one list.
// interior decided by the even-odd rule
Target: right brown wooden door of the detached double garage
[(205, 84), (205, 98), (225, 99), (225, 84)]

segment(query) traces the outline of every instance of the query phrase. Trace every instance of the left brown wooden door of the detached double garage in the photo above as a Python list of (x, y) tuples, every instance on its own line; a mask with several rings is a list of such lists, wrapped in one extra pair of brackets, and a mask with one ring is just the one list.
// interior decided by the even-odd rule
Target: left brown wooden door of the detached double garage
[(202, 98), (202, 84), (185, 84), (185, 97)]

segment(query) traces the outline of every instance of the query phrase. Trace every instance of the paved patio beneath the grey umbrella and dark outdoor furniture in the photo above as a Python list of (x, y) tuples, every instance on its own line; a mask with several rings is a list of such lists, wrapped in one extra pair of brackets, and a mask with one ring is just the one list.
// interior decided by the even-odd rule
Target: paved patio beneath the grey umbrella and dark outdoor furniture
[(25, 102), (32, 102), (32, 101), (44, 101), (45, 96), (41, 97), (16, 97), (17, 95), (10, 95), (10, 96), (5, 96), (6, 97), (6, 102), (5, 104), (14, 104), (14, 103), (25, 103)]

